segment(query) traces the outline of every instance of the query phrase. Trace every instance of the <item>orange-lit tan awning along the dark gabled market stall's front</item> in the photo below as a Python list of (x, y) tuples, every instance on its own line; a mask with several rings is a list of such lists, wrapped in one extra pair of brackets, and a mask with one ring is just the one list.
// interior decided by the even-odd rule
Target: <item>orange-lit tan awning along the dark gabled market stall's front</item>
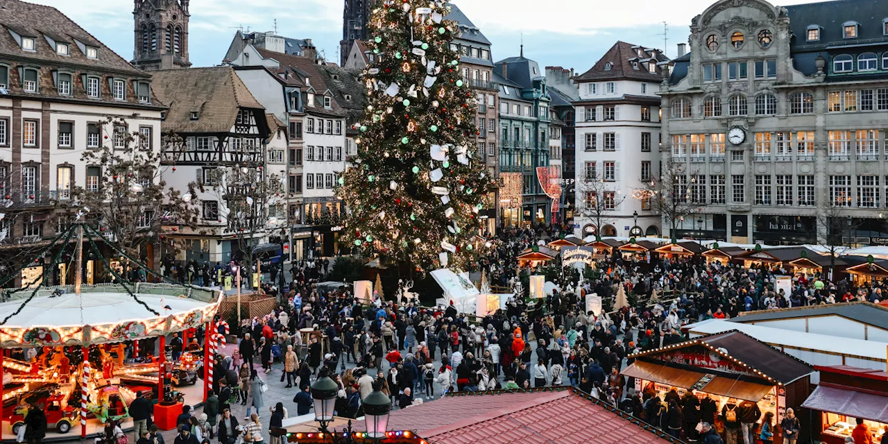
[[(707, 374), (703, 371), (676, 369), (648, 361), (635, 361), (632, 365), (622, 370), (622, 374), (627, 377), (637, 377), (638, 379), (674, 385), (684, 389), (694, 387), (694, 390), (700, 392), (718, 394), (740, 400), (751, 400), (752, 402), (758, 402), (764, 398), (765, 394), (771, 392), (773, 387), (773, 385), (741, 381), (737, 377), (722, 377)], [(703, 377), (710, 379), (709, 383), (701, 381)], [(697, 385), (698, 381), (702, 384), (694, 386)]]

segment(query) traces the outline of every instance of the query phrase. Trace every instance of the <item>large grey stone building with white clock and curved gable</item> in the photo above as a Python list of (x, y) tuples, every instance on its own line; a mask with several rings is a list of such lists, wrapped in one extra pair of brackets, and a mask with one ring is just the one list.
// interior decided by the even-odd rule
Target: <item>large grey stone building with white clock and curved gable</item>
[(675, 235), (888, 243), (888, 4), (723, 0), (690, 47), (661, 91), (664, 162), (700, 204)]

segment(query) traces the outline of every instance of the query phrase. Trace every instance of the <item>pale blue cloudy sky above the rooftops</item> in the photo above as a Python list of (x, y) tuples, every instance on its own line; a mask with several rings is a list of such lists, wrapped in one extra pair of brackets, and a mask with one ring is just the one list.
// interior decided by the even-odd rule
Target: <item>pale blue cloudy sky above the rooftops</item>
[[(127, 0), (31, 0), (49, 4), (86, 28), (125, 59), (132, 59), (132, 2)], [(786, 0), (780, 4), (808, 3)], [(617, 40), (663, 49), (663, 21), (669, 26), (666, 53), (686, 42), (695, 15), (710, 0), (454, 0), (493, 43), (495, 60), (524, 55), (541, 66), (583, 72)], [(192, 0), (190, 57), (195, 67), (218, 65), (236, 28), (274, 29), (311, 38), (338, 62), (343, 0)]]

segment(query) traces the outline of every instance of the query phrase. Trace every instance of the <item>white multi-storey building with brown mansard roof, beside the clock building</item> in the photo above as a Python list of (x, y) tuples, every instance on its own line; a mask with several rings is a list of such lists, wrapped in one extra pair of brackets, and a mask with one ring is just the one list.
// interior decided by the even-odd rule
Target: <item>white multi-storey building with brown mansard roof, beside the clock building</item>
[(640, 190), (657, 177), (662, 52), (617, 42), (576, 77), (575, 234), (655, 236), (660, 216)]

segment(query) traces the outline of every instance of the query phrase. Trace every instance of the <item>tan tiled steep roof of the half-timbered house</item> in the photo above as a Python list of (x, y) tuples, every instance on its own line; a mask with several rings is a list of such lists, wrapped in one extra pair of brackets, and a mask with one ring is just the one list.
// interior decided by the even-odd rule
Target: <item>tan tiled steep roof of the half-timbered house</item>
[[(190, 67), (155, 71), (155, 95), (170, 107), (164, 131), (228, 132), (240, 108), (265, 109), (233, 67)], [(191, 120), (192, 111), (199, 111)]]

